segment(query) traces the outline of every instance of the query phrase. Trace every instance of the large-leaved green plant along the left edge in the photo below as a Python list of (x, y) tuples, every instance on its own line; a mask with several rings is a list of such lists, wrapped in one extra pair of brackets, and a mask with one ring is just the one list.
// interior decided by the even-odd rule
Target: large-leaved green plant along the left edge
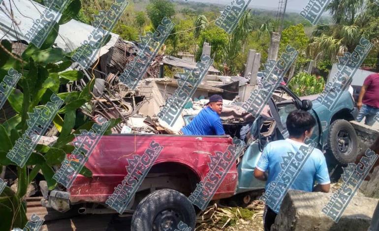
[[(76, 17), (80, 8), (80, 2), (71, 1), (68, 10), (63, 11), (60, 23), (68, 22)], [(7, 49), (5, 52), (0, 49), (0, 74), (1, 78), (10, 68), (17, 70), (22, 77), (8, 97), (8, 103), (16, 112), (11, 118), (0, 124), (0, 165), (8, 166), (15, 163), (10, 161), (6, 154), (12, 149), (16, 140), (22, 136), (28, 129), (27, 120), (31, 119), (28, 113), (35, 108), (43, 108), (49, 101), (53, 93), (64, 100), (63, 108), (55, 115), (54, 125), (60, 131), (58, 141), (52, 146), (38, 144), (29, 157), (23, 168), (16, 167), (18, 177), (18, 189), (13, 193), (9, 187), (5, 187), (0, 195), (0, 214), (2, 221), (0, 230), (11, 230), (14, 227), (24, 227), (27, 222), (26, 203), (24, 201), (28, 185), (32, 182), (39, 171), (47, 182), (50, 190), (57, 186), (53, 179), (53, 166), (59, 165), (67, 153), (73, 150), (69, 143), (74, 139), (74, 133), (78, 134), (80, 129), (90, 130), (94, 122), (82, 121), (82, 124), (72, 132), (76, 125), (76, 111), (84, 103), (92, 99), (90, 92), (95, 83), (93, 79), (86, 85), (82, 92), (64, 92), (59, 93), (61, 85), (72, 83), (83, 78), (83, 73), (70, 70), (64, 71), (72, 64), (70, 54), (66, 54), (60, 48), (52, 48), (52, 44), (58, 36), (59, 24), (57, 23), (46, 41), (42, 44), (41, 49), (35, 47), (32, 43), (21, 56), (16, 54), (10, 55), (12, 48), (10, 43), (2, 40), (1, 44)], [(56, 64), (59, 62), (60, 64)], [(62, 119), (62, 117), (64, 119)], [(120, 120), (111, 120), (111, 126), (116, 125)], [(110, 129), (110, 128), (109, 128)], [(42, 134), (43, 135), (43, 134)], [(28, 169), (31, 171), (27, 171)], [(86, 176), (92, 173), (84, 168), (81, 172)], [(4, 220), (5, 219), (5, 220)]]

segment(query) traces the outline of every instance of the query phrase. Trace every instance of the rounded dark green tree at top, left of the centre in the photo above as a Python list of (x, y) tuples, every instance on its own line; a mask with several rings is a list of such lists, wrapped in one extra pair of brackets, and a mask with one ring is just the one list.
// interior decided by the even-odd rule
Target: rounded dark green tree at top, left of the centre
[(158, 28), (164, 17), (172, 19), (175, 15), (174, 4), (169, 0), (150, 0), (146, 11), (154, 29)]

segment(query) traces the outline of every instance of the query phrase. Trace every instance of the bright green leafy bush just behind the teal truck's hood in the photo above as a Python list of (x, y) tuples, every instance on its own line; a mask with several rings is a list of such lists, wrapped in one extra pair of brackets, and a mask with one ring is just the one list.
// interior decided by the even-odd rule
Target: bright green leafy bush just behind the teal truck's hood
[(325, 81), (321, 77), (303, 72), (294, 76), (289, 81), (288, 87), (298, 96), (313, 95), (322, 92)]

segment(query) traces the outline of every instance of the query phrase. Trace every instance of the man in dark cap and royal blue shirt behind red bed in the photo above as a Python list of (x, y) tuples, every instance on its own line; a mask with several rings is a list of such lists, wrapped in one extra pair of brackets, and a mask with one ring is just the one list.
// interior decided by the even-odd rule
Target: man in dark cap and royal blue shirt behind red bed
[(207, 107), (202, 109), (199, 114), (183, 127), (181, 132), (184, 135), (205, 136), (205, 135), (224, 135), (220, 114), (222, 111), (222, 97), (212, 95), (209, 98)]

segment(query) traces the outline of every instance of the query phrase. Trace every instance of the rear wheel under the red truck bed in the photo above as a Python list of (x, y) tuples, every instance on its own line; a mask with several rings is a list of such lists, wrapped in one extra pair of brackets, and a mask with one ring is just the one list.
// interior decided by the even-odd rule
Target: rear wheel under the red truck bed
[(194, 230), (195, 220), (195, 209), (185, 195), (172, 189), (160, 189), (138, 204), (131, 230), (175, 231), (181, 221)]

